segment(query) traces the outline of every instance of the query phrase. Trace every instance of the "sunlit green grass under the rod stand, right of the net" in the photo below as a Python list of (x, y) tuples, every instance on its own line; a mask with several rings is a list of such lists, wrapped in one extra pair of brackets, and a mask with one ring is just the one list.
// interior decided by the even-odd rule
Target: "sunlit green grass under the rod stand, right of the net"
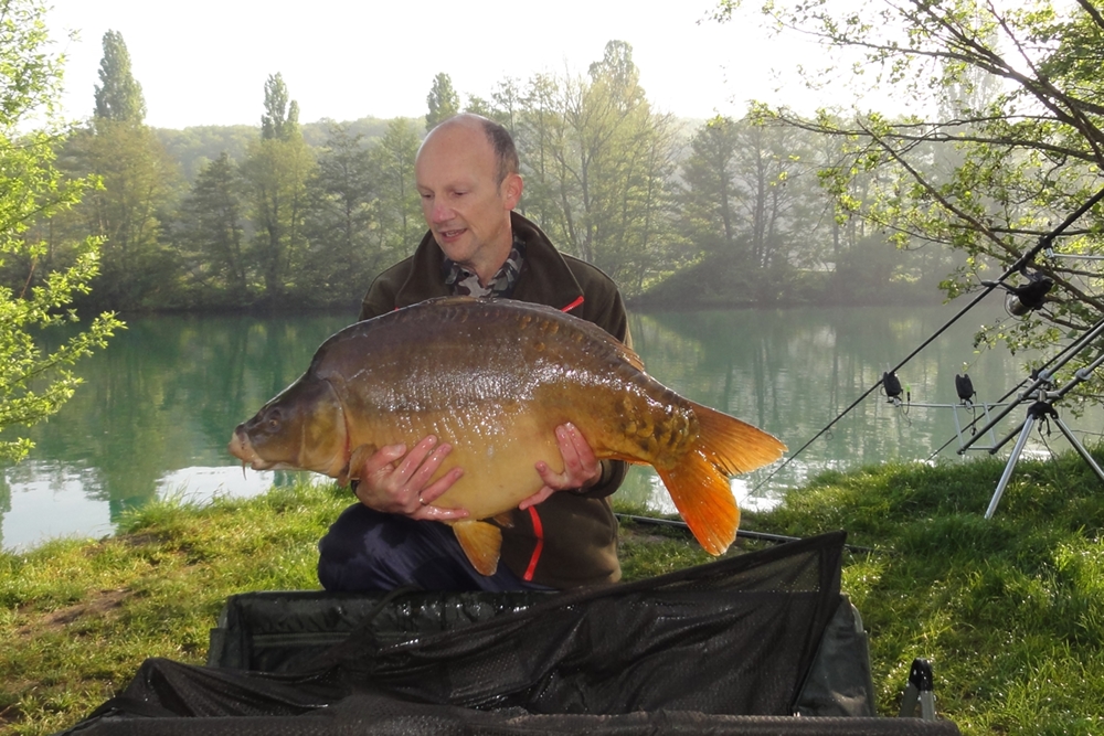
[(914, 657), (967, 734), (1104, 732), (1104, 487), (1075, 455), (1020, 461), (983, 514), (1000, 460), (830, 473), (745, 526), (832, 529), (877, 552), (845, 562), (871, 634), (879, 712), (900, 708)]

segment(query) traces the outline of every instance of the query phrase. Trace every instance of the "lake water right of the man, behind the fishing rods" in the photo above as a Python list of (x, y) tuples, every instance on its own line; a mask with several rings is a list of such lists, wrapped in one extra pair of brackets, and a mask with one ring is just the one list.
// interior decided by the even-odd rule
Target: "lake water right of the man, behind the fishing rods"
[[(879, 392), (809, 442), (953, 313), (951, 308), (667, 312), (634, 316), (631, 329), (652, 375), (689, 398), (778, 436), (789, 456), (800, 450), (781, 471), (773, 467), (734, 481), (745, 508), (762, 508), (783, 489), (826, 469), (926, 459), (945, 446), (938, 457), (958, 457), (956, 427), (966, 427), (974, 412), (981, 410), (952, 408), (960, 404), (955, 375), (968, 370), (978, 392), (975, 402), (994, 403), (1028, 374), (1031, 355), (1012, 356), (1002, 349), (977, 353), (973, 348), (978, 327), (1002, 314), (965, 318), (912, 359), (899, 374), (911, 405), (894, 406)], [(1023, 415), (1013, 410), (996, 437), (1012, 430)], [(1100, 425), (1100, 416), (1092, 410), (1075, 424), (1091, 429)], [(985, 441), (977, 448), (988, 446)], [(1005, 454), (1008, 449), (1010, 444)], [(1064, 441), (1057, 449), (1066, 449)], [(1033, 438), (1027, 454), (1044, 452)], [(631, 493), (645, 498), (646, 489), (659, 488), (650, 469), (635, 472), (645, 478), (634, 481), (634, 489), (645, 490)]]

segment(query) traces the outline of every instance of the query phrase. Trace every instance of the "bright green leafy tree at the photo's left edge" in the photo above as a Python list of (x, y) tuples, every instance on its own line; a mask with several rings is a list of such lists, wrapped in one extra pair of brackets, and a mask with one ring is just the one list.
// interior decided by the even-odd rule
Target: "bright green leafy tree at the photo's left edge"
[[(32, 442), (21, 431), (57, 412), (79, 378), (70, 370), (104, 348), (121, 322), (104, 313), (45, 350), (44, 334), (76, 321), (68, 306), (96, 275), (97, 243), (85, 241), (73, 264), (40, 273), (45, 245), (35, 220), (72, 206), (87, 180), (64, 181), (54, 168), (60, 126), (51, 115), (61, 94), (61, 62), (47, 52), (45, 9), (36, 0), (0, 0), (0, 458), (19, 460)], [(24, 132), (31, 125), (43, 126)], [(11, 267), (22, 264), (18, 280)]]

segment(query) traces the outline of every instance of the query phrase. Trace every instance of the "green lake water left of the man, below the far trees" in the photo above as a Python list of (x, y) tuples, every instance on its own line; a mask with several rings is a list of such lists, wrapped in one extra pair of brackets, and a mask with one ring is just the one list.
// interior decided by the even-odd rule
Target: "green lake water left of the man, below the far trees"
[(293, 381), (343, 316), (131, 320), (81, 364), (84, 385), (30, 433), (35, 449), (0, 476), (4, 547), (102, 535), (164, 494), (252, 495), (282, 476), (226, 452), (233, 427)]

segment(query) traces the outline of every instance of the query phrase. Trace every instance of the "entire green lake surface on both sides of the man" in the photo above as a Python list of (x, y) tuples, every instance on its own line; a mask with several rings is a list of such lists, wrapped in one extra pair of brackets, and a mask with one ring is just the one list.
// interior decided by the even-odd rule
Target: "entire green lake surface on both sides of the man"
[[(793, 454), (957, 309), (648, 312), (634, 313), (630, 329), (649, 373), (771, 431)], [(938, 457), (957, 461), (956, 415), (965, 426), (973, 414), (952, 408), (955, 375), (968, 370), (976, 401), (984, 402), (1027, 376), (1023, 356), (974, 350), (978, 326), (995, 319), (1009, 319), (999, 305), (975, 309), (899, 372), (911, 406), (894, 406), (879, 391), (782, 470), (733, 481), (742, 505), (768, 506), (785, 488), (827, 468), (924, 460), (945, 445)], [(153, 498), (243, 497), (289, 482), (291, 473), (243, 473), (226, 442), (237, 423), (294, 381), (318, 344), (348, 323), (347, 314), (129, 320), (107, 350), (79, 364), (85, 383), (61, 413), (31, 430), (36, 447), (30, 457), (2, 469), (0, 544), (20, 550), (55, 536), (99, 537), (113, 532), (124, 510)], [(1095, 441), (1098, 412), (1074, 418), (1062, 403), (1058, 408), (1079, 435), (1089, 434), (1085, 441)], [(1016, 407), (995, 438), (1015, 431), (1025, 414), (1026, 405)], [(1049, 444), (1069, 449), (1057, 428)], [(1038, 435), (1027, 451), (1045, 451)], [(673, 511), (650, 468), (634, 468), (619, 493)]]

